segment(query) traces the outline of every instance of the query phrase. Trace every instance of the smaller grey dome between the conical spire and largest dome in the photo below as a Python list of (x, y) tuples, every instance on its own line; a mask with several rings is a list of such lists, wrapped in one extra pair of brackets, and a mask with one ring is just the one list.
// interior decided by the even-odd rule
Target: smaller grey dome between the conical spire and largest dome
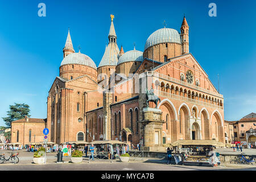
[(137, 50), (127, 51), (121, 57), (119, 57), (117, 65), (125, 62), (130, 62), (130, 61), (142, 62), (143, 52), (137, 51)]

